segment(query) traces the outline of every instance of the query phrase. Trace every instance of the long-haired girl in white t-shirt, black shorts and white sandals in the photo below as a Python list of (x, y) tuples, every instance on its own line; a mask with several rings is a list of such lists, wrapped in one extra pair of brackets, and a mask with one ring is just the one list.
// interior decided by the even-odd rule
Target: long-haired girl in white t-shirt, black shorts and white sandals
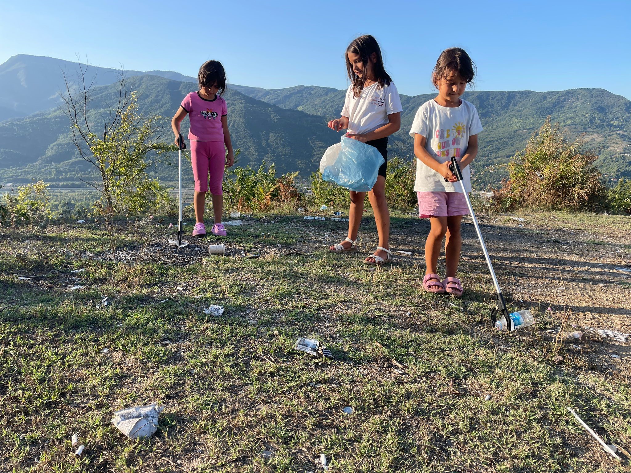
[[(329, 128), (335, 131), (348, 128), (347, 137), (357, 139), (377, 148), (384, 163), (374, 187), (368, 193), (370, 205), (375, 213), (375, 223), (379, 234), (379, 246), (374, 254), (367, 257), (367, 264), (384, 264), (392, 253), (388, 245), (390, 234), (390, 214), (386, 202), (386, 166), (388, 136), (401, 126), (401, 99), (390, 76), (384, 69), (381, 50), (377, 40), (370, 35), (353, 40), (345, 54), (346, 70), (351, 85), (346, 91), (346, 100), (341, 117), (331, 120)], [(329, 251), (357, 252), (357, 232), (362, 221), (365, 192), (350, 191), (348, 209), (348, 237), (329, 248)]]

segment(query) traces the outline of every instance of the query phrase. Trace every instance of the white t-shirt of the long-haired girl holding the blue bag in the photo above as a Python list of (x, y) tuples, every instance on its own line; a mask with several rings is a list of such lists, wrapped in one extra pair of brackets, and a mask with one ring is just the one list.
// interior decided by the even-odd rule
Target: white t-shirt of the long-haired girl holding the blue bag
[(362, 94), (353, 96), (353, 85), (346, 91), (342, 116), (348, 117), (348, 132), (364, 134), (388, 123), (388, 115), (403, 112), (394, 82), (384, 88), (374, 83), (364, 87)]

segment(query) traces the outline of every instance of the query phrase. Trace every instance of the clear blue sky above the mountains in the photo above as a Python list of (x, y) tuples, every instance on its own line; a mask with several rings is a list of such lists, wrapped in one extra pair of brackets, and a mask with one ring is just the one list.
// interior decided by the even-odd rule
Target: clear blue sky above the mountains
[(440, 52), (463, 47), (478, 90), (604, 88), (631, 99), (631, 1), (11, 2), (0, 62), (47, 55), (196, 76), (223, 62), (230, 82), (346, 88), (343, 52), (374, 35), (401, 93), (430, 93)]

